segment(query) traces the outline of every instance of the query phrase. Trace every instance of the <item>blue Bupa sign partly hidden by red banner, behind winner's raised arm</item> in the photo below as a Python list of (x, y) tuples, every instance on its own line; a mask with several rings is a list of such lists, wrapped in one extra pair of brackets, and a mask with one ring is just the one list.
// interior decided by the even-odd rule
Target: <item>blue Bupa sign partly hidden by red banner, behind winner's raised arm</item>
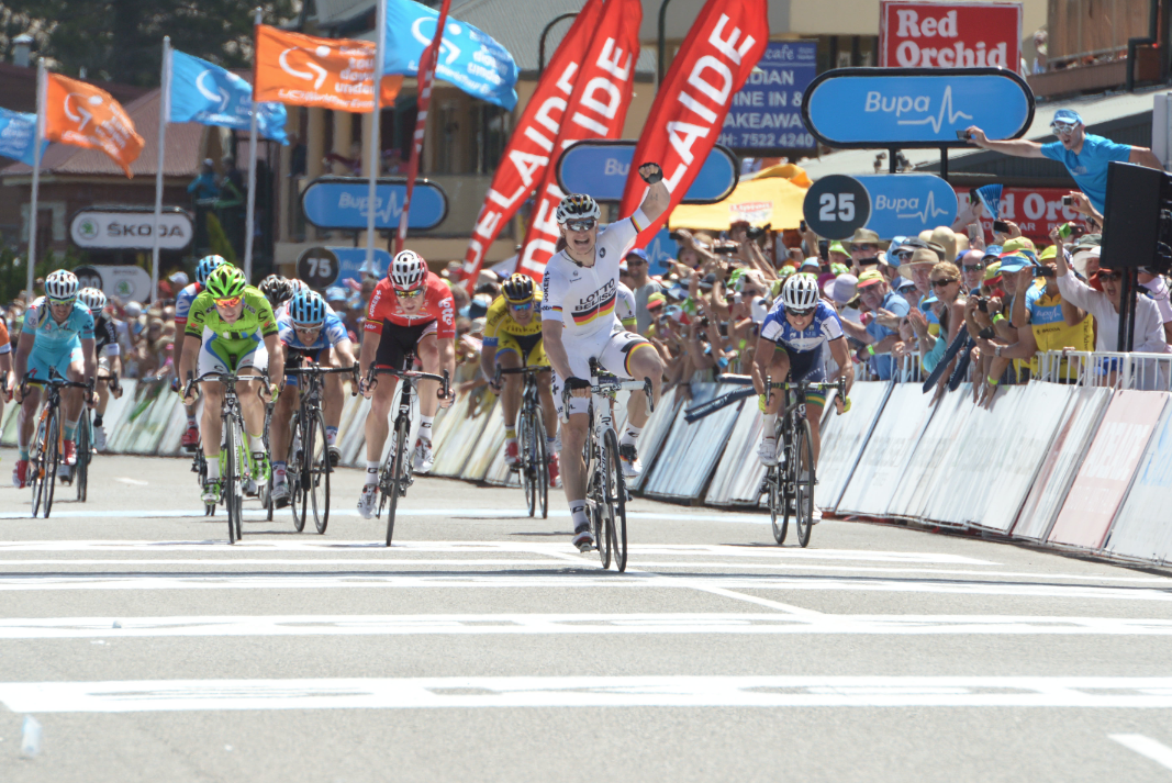
[[(633, 141), (577, 142), (558, 158), (558, 186), (567, 193), (588, 193), (598, 202), (620, 202), (634, 156)], [(683, 203), (724, 200), (740, 182), (740, 171), (741, 162), (732, 150), (717, 144), (684, 193)]]

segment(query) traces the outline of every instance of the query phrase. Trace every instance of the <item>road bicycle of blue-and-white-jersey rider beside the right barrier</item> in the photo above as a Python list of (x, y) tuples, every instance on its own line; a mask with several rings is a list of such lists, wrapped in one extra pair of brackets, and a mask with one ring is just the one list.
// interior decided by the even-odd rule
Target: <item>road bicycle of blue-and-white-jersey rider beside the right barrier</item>
[[(813, 436), (810, 422), (805, 417), (805, 395), (810, 392), (830, 392), (836, 389), (840, 399), (846, 400), (846, 379), (833, 383), (774, 383), (765, 377), (765, 388), (782, 389), (788, 393), (785, 407), (778, 411), (774, 425), (775, 443), (778, 444), (776, 465), (765, 470), (762, 479), (762, 492), (768, 496), (769, 519), (774, 526), (774, 540), (785, 543), (789, 531), (790, 513), (798, 531), (798, 544), (803, 547), (810, 544), (810, 531), (813, 527), (813, 488), (818, 483), (813, 464)], [(802, 470), (802, 468), (805, 470)], [(779, 522), (778, 522), (779, 520)]]

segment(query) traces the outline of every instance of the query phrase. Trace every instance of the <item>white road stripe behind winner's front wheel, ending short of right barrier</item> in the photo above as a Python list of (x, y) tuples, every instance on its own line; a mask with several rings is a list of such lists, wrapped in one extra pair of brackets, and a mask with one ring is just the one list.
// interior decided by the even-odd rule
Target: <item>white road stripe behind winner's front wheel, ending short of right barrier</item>
[[(333, 513), (333, 512), (331, 512)], [(529, 517), (525, 517), (526, 519)], [(239, 544), (229, 544), (223, 539), (186, 540), (186, 542), (148, 542), (148, 540), (39, 540), (39, 542), (0, 542), (0, 554), (11, 552), (322, 552), (342, 553), (347, 551), (363, 553), (386, 553), (394, 557), (400, 553), (415, 552), (459, 552), (459, 553), (497, 553), (524, 552), (530, 554), (572, 554), (577, 559), (598, 561), (595, 554), (581, 557), (565, 542), (396, 542), (387, 547), (381, 540), (345, 540), (331, 538), (306, 538), (304, 540), (248, 540), (245, 537)], [(732, 546), (728, 544), (632, 544), (631, 552), (640, 556), (718, 556), (729, 558), (761, 558), (770, 560), (845, 560), (857, 563), (899, 563), (899, 564), (943, 564), (943, 565), (997, 565), (990, 560), (980, 560), (962, 554), (940, 552), (879, 552), (872, 550), (803, 550), (781, 546)]]

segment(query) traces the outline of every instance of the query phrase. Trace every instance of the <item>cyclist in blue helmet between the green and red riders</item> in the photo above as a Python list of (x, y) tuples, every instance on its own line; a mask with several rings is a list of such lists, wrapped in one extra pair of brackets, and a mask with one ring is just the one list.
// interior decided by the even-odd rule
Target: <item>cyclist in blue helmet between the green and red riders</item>
[[(285, 366), (295, 367), (302, 358), (308, 358), (323, 367), (353, 367), (354, 345), (346, 331), (342, 319), (326, 304), (321, 294), (302, 291), (281, 306), (277, 316), (278, 336), (281, 350), (285, 352)], [(289, 420), (297, 409), (300, 392), (298, 377), (285, 376), (285, 388), (277, 399), (273, 420), (270, 427), (273, 459), (273, 502), (277, 505), (288, 503), (289, 489), (286, 472), (285, 455), (288, 452)], [(323, 414), (326, 416), (326, 445), (329, 449), (329, 461), (338, 464), (341, 452), (338, 449), (338, 427), (342, 421), (345, 390), (342, 376), (327, 375), (325, 379)]]

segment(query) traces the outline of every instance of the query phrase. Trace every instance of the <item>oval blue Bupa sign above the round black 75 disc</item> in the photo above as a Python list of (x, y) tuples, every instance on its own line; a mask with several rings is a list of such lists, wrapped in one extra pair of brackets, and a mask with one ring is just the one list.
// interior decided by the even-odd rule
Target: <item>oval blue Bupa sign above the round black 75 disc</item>
[[(361, 177), (319, 177), (301, 195), (305, 219), (319, 229), (364, 231), (369, 182)], [(397, 229), (407, 197), (407, 179), (384, 177), (375, 189), (375, 220), (380, 230)], [(448, 217), (448, 195), (434, 182), (416, 179), (407, 227), (435, 229)]]

